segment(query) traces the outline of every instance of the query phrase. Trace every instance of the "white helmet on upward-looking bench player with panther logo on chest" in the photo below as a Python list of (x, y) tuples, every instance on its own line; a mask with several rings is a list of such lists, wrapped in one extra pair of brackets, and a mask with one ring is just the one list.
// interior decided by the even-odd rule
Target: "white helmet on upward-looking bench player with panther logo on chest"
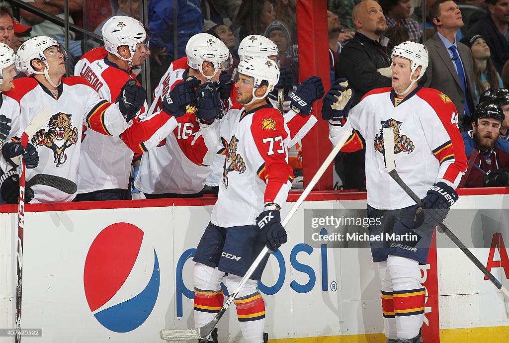
[[(19, 47), (17, 55), (19, 56), (19, 62), (21, 63), (21, 71), (25, 73), (26, 76), (30, 76), (32, 74), (44, 75), (53, 87), (58, 87), (58, 85), (54, 84), (49, 78), (49, 66), (46, 62), (46, 56), (44, 55), (44, 50), (51, 46), (58, 47), (59, 52), (64, 55), (64, 61), (67, 60), (67, 52), (64, 47), (53, 38), (46, 36), (38, 36), (25, 41)], [(31, 64), (34, 59), (39, 59), (46, 65), (44, 72), (34, 70)]]

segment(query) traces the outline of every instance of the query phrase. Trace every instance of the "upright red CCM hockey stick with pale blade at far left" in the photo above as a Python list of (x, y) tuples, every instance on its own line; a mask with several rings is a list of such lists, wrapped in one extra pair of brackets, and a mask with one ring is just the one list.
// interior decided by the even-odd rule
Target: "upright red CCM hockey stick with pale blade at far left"
[[(49, 107), (43, 107), (39, 113), (32, 119), (30, 124), (26, 127), (25, 131), (21, 134), (21, 146), (26, 148), (29, 139), (39, 130), (39, 128), (48, 121), (52, 112)], [(24, 207), (25, 207), (25, 164), (22, 158), (23, 154), (19, 156), (19, 206), (18, 206), (18, 268), (17, 277), (18, 283), (16, 284), (16, 329), (21, 332), (21, 283), (23, 276), (23, 227), (24, 227)], [(16, 335), (16, 342), (21, 342), (21, 334)]]

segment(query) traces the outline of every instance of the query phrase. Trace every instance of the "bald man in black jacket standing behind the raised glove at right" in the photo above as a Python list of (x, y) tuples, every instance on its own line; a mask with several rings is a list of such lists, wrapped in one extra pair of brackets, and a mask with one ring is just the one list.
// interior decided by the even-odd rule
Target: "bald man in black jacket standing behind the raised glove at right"
[[(366, 0), (355, 6), (352, 18), (357, 32), (343, 48), (336, 64), (335, 78), (346, 77), (354, 91), (353, 105), (375, 88), (390, 87), (389, 40), (380, 5)], [(365, 179), (365, 150), (345, 154), (345, 189), (362, 189)]]

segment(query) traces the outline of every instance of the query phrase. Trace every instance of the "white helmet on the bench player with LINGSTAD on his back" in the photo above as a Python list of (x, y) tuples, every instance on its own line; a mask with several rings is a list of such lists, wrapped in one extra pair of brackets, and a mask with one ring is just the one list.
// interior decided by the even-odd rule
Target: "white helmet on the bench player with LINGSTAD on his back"
[[(123, 15), (113, 16), (104, 23), (102, 38), (104, 39), (106, 51), (115, 54), (124, 61), (132, 60), (134, 52), (136, 52), (136, 44), (148, 43), (146, 42), (147, 34), (143, 24), (134, 18)], [(128, 59), (123, 58), (118, 51), (118, 48), (124, 45), (131, 52)]]

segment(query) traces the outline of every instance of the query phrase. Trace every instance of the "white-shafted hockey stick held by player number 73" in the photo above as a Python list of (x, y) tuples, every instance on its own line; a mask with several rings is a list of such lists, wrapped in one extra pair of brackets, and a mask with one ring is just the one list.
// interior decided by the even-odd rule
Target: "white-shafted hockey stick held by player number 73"
[[(288, 214), (285, 217), (285, 219), (281, 222), (281, 225), (286, 226), (288, 224), (288, 222), (290, 221), (292, 216), (295, 214), (297, 209), (304, 202), (304, 199), (307, 197), (309, 192), (313, 189), (313, 187), (315, 187), (315, 185), (317, 184), (318, 180), (320, 180), (320, 178), (322, 177), (323, 173), (325, 173), (325, 170), (332, 163), (332, 161), (334, 160), (334, 157), (336, 157), (337, 153), (341, 150), (341, 148), (343, 147), (345, 142), (352, 135), (352, 130), (353, 129), (350, 126), (347, 129), (347, 132), (345, 132), (345, 134), (341, 137), (340, 141), (334, 147), (334, 149), (332, 149), (332, 151), (330, 152), (329, 156), (327, 156), (327, 158), (322, 163), (322, 165), (318, 169), (318, 171), (315, 174), (315, 176), (313, 177), (313, 179), (311, 179), (311, 181), (307, 185), (306, 189), (304, 189), (302, 194), (300, 194), (300, 196), (297, 199), (297, 202), (295, 203), (295, 205), (292, 207), (290, 212), (288, 212)], [(204, 326), (202, 326), (200, 328), (193, 328), (193, 329), (162, 329), (159, 332), (159, 335), (161, 336), (161, 338), (164, 339), (164, 340), (191, 340), (191, 339), (202, 339), (204, 337), (207, 337), (212, 332), (214, 327), (217, 325), (217, 322), (219, 322), (219, 320), (221, 319), (221, 317), (224, 314), (224, 312), (232, 304), (234, 298), (240, 292), (240, 290), (242, 289), (242, 287), (244, 286), (246, 281), (252, 275), (254, 270), (258, 267), (260, 262), (262, 262), (263, 258), (265, 257), (265, 255), (268, 252), (270, 252), (270, 250), (269, 250), (269, 248), (267, 248), (267, 246), (265, 246), (262, 249), (262, 251), (260, 252), (260, 254), (258, 255), (258, 257), (256, 258), (256, 260), (254, 260), (252, 265), (249, 267), (249, 269), (247, 270), (247, 272), (244, 275), (244, 277), (242, 277), (242, 279), (240, 280), (239, 284), (237, 285), (235, 290), (232, 292), (230, 297), (227, 299), (227, 301), (221, 307), (221, 309), (219, 310), (217, 315), (214, 317), (214, 319), (212, 319), (212, 321), (210, 321), (209, 323), (207, 323), (206, 325), (204, 325)]]

